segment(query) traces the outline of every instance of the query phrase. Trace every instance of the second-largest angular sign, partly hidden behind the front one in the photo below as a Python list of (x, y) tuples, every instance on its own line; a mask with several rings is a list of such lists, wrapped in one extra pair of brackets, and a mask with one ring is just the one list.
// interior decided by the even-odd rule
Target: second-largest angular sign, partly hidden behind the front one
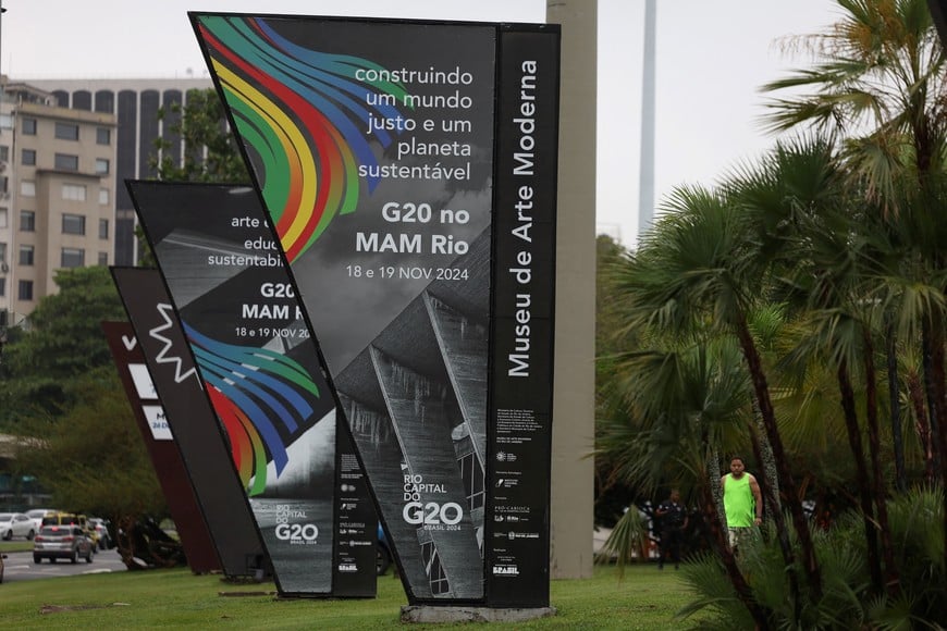
[(377, 521), (256, 193), (128, 182), (287, 596), (373, 596)]

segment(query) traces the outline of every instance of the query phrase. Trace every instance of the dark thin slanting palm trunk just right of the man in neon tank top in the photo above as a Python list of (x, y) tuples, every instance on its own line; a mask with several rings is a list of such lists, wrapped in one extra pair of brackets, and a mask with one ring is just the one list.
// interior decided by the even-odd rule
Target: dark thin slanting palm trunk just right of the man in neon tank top
[(817, 603), (822, 599), (822, 572), (819, 568), (819, 559), (815, 557), (815, 545), (812, 543), (809, 522), (802, 510), (802, 502), (797, 493), (792, 472), (789, 470), (786, 449), (783, 446), (783, 436), (779, 434), (779, 428), (776, 425), (776, 412), (773, 410), (773, 401), (770, 399), (770, 386), (766, 383), (766, 375), (763, 372), (760, 354), (757, 350), (757, 344), (753, 342), (753, 336), (750, 333), (743, 313), (739, 314), (736, 329), (740, 347), (743, 350), (743, 357), (750, 370), (750, 378), (753, 381), (753, 392), (757, 395), (757, 404), (760, 406), (760, 416), (766, 430), (766, 437), (773, 447), (773, 457), (776, 460), (783, 504), (789, 508), (789, 515), (792, 516), (792, 525), (796, 529), (802, 552), (802, 567), (809, 580), (812, 601)]

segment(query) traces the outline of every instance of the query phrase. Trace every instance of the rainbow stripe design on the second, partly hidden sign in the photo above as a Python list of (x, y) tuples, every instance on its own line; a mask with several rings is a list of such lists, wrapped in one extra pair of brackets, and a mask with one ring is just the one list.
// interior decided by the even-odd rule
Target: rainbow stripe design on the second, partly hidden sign
[(319, 387), (303, 366), (284, 355), (217, 342), (182, 325), (226, 429), (241, 481), (249, 496), (259, 495), (267, 486), (268, 462), (273, 461), (279, 477), (288, 462), (286, 446), (318, 421), (306, 397), (318, 398)]

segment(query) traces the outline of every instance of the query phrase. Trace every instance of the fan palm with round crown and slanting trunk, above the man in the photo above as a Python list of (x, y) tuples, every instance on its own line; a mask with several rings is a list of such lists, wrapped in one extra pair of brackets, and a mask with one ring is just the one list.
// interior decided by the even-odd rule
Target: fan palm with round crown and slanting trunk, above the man
[[(809, 589), (817, 601), (822, 591), (819, 564), (749, 325), (754, 305), (766, 293), (767, 261), (775, 242), (758, 238), (766, 232), (753, 223), (760, 215), (743, 212), (725, 193), (681, 187), (663, 210), (660, 226), (642, 238), (632, 264), (615, 276), (617, 290), (628, 296), (629, 323), (675, 334), (698, 321), (736, 337), (773, 449), (783, 505), (791, 516)], [(774, 517), (777, 529), (785, 531), (779, 524), (782, 515)], [(786, 549), (785, 554), (791, 565), (794, 553)]]

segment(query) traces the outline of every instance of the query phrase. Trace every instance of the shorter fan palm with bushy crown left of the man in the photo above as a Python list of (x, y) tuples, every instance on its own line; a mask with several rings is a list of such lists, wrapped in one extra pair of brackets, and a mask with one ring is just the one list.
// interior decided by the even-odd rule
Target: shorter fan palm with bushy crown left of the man
[[(624, 274), (635, 273), (634, 259), (629, 257)], [(677, 486), (696, 488), (713, 548), (738, 597), (765, 628), (768, 613), (755, 602), (727, 545), (714, 500), (720, 473), (711, 471), (716, 453), (736, 443), (735, 434), (751, 415), (748, 374), (731, 337), (708, 338), (699, 322), (692, 324), (694, 330), (685, 336), (655, 331), (643, 337), (645, 348), (611, 358), (611, 405), (599, 421), (597, 455), (614, 462), (614, 475), (638, 487), (653, 490), (671, 479)], [(629, 524), (635, 517), (629, 510), (606, 542), (606, 550), (619, 560), (634, 545), (637, 531)]]

